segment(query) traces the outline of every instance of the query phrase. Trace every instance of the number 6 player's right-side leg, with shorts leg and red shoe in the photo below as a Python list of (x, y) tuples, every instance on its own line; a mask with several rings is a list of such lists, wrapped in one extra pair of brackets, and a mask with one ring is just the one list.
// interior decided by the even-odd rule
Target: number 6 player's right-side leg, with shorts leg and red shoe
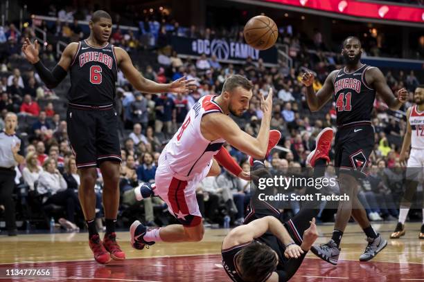
[(125, 259), (116, 242), (116, 217), (119, 207), (119, 170), (121, 149), (118, 137), (118, 117), (114, 109), (96, 112), (96, 157), (103, 176), (103, 207), (106, 232), (103, 245), (115, 260)]

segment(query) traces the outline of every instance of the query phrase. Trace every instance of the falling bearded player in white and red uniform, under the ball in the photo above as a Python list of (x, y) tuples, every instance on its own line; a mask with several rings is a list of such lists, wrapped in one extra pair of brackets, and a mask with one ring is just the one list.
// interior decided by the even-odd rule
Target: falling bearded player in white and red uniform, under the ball
[(188, 112), (159, 157), (152, 190), (148, 184), (135, 189), (138, 200), (152, 196), (152, 192), (162, 198), (181, 224), (150, 230), (136, 220), (130, 227), (133, 247), (141, 250), (158, 241), (201, 241), (204, 227), (195, 195), (197, 184), (206, 176), (217, 176), (218, 163), (235, 176), (250, 179), (249, 173), (242, 171), (222, 146), (224, 142), (263, 159), (279, 141), (279, 131), (270, 134), (272, 90), (266, 100), (261, 97), (263, 118), (256, 138), (242, 131), (229, 117), (229, 113), (240, 116), (249, 109), (252, 87), (245, 77), (232, 75), (224, 82), (219, 96), (202, 97)]

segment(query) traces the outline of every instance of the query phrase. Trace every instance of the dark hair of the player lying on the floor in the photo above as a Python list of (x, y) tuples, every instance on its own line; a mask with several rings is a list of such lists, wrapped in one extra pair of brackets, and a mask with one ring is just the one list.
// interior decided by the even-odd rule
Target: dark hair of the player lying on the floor
[(275, 252), (267, 245), (260, 243), (250, 244), (238, 254), (243, 281), (263, 281), (276, 269), (277, 259)]

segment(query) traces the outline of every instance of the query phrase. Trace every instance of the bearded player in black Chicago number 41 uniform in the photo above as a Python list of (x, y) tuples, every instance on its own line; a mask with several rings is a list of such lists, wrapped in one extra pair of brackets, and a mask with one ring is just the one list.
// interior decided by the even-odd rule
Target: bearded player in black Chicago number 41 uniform
[(330, 73), (317, 93), (312, 88), (312, 73), (306, 72), (302, 77), (303, 84), (307, 86), (306, 99), (311, 111), (321, 109), (333, 95), (336, 103), (338, 130), (335, 136), (335, 168), (340, 179), (340, 194), (347, 194), (350, 200), (339, 202), (331, 240), (311, 248), (314, 254), (333, 265), (337, 265), (339, 244), (351, 216), (362, 227), (369, 242), (360, 261), (369, 261), (387, 245), (387, 241), (373, 229), (366, 217), (364, 207), (357, 198), (355, 178), (366, 176), (365, 168), (374, 147), (371, 111), (376, 93), (391, 110), (398, 110), (407, 97), (407, 91), (400, 89), (396, 98), (380, 69), (360, 62), (362, 48), (357, 37), (347, 37), (343, 41), (342, 55), (344, 68)]

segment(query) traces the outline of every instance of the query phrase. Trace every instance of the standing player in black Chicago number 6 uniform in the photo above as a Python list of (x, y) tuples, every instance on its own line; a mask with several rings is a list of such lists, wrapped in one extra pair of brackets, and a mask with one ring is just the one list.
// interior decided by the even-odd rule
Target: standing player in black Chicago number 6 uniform
[[(145, 79), (134, 68), (125, 50), (109, 44), (112, 19), (107, 12), (94, 12), (89, 28), (89, 37), (69, 44), (53, 71), (49, 71), (39, 60), (37, 40), (32, 44), (26, 38), (22, 51), (48, 88), (55, 88), (67, 76), (68, 71), (71, 73), (67, 122), (69, 140), (80, 171), (78, 195), (89, 229), (89, 245), (94, 259), (105, 264), (111, 258), (125, 259), (124, 252), (116, 243), (115, 234), (121, 165), (118, 117), (114, 110), (117, 68), (121, 68), (134, 88), (143, 93), (186, 93), (193, 90), (195, 85), (185, 77), (170, 84), (157, 84)], [(103, 242), (100, 241), (94, 222), (96, 167), (100, 167), (104, 180), (106, 233)]]

